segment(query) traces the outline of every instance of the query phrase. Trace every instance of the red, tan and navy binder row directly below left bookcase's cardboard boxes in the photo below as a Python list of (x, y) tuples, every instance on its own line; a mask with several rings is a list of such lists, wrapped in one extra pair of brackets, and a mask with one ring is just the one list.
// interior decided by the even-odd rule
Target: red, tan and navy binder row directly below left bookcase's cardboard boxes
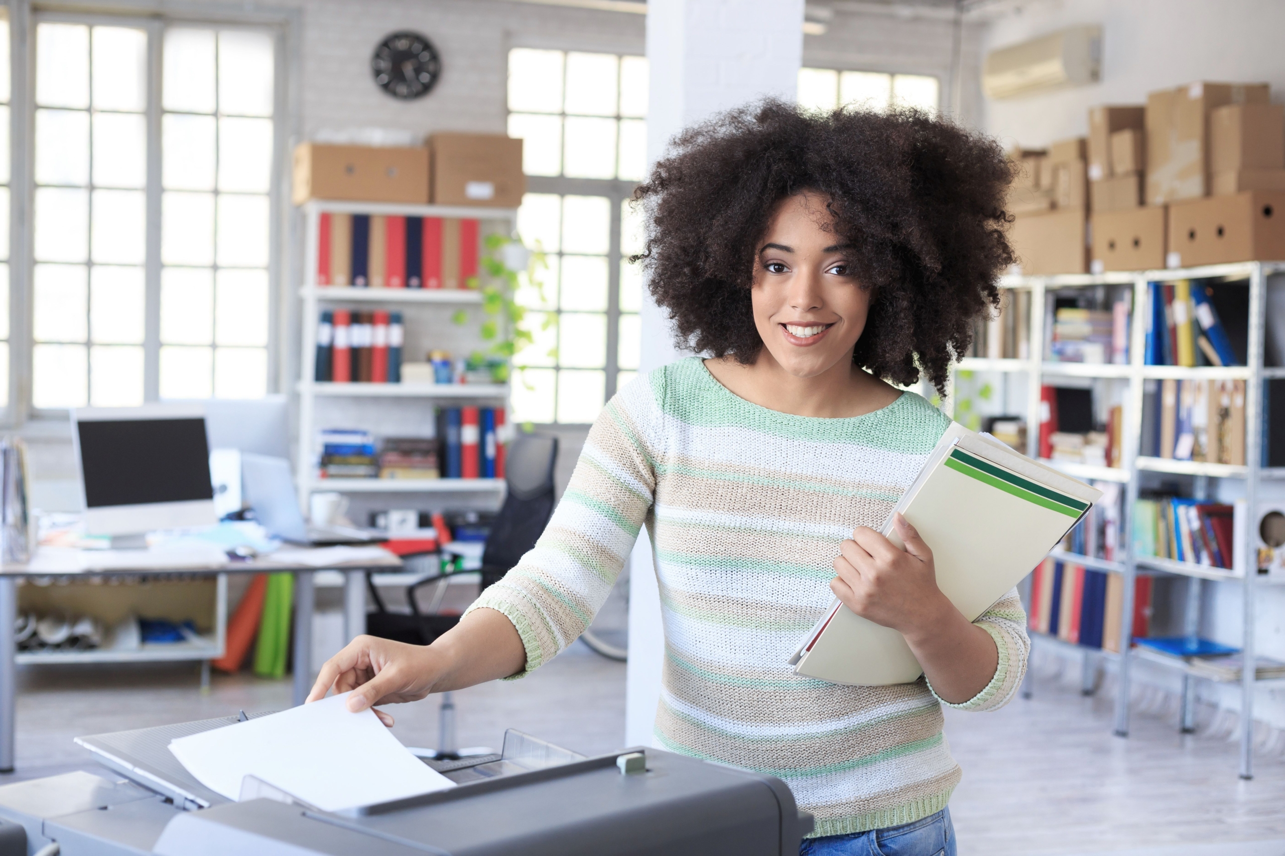
[(324, 213), (320, 221), (317, 285), (477, 287), (477, 219)]

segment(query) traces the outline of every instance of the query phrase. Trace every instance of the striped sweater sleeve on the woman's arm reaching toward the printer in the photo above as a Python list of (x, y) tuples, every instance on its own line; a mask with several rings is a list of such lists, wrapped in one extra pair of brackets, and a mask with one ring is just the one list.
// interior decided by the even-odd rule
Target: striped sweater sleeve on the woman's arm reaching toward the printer
[(608, 402), (540, 540), (465, 612), (487, 607), (513, 621), (527, 651), (526, 669), (513, 678), (535, 671), (585, 631), (634, 549), (655, 492), (662, 372)]

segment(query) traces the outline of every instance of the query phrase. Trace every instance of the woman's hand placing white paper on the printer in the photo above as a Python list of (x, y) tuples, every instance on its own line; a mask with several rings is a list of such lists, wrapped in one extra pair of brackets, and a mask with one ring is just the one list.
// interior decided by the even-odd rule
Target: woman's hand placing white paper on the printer
[[(333, 687), (335, 694), (352, 690), (347, 706), (355, 714), (375, 705), (418, 702), (433, 692), (443, 666), (432, 646), (357, 637), (321, 666), (307, 701), (325, 698)], [(384, 711), (377, 710), (375, 716), (392, 726), (393, 717)]]

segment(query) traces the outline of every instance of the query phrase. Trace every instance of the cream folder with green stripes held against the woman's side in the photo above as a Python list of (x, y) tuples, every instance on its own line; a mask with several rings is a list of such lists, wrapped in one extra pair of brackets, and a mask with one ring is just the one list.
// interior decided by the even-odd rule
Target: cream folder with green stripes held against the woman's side
[[(896, 511), (933, 551), (937, 585), (969, 621), (1016, 585), (1101, 492), (952, 422)], [(897, 547), (892, 515), (882, 529)], [(839, 603), (799, 643), (794, 672), (835, 684), (911, 683), (923, 674), (900, 633)]]

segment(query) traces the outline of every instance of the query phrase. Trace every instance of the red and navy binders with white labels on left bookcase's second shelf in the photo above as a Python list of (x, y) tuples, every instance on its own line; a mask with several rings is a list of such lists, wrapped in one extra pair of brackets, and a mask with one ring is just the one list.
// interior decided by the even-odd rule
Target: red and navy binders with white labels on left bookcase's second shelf
[(326, 309), (317, 321), (314, 380), (400, 384), (405, 330), (401, 312)]

